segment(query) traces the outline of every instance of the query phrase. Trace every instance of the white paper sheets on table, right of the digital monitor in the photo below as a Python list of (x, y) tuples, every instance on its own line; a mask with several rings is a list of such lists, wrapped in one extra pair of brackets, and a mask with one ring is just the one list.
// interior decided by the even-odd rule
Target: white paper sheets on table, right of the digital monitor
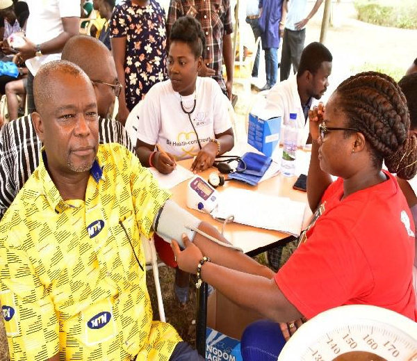
[(299, 236), (306, 204), (290, 198), (264, 195), (245, 189), (227, 188), (220, 193), (219, 218), (234, 216), (234, 222)]

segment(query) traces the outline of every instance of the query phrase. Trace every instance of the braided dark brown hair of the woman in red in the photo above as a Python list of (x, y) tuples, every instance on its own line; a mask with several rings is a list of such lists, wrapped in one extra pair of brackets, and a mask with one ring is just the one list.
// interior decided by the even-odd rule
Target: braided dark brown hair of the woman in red
[(411, 179), (417, 172), (417, 139), (409, 134), (407, 100), (386, 74), (362, 72), (336, 89), (347, 127), (359, 129), (370, 144), (374, 165), (398, 177)]

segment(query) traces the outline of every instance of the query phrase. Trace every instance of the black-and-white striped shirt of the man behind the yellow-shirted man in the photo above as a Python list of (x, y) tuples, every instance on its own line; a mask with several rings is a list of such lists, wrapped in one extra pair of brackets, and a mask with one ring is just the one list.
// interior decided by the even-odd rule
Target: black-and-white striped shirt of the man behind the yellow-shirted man
[[(124, 127), (115, 120), (99, 118), (99, 143), (120, 143), (134, 152)], [(0, 218), (38, 167), (41, 147), (30, 115), (1, 127)]]

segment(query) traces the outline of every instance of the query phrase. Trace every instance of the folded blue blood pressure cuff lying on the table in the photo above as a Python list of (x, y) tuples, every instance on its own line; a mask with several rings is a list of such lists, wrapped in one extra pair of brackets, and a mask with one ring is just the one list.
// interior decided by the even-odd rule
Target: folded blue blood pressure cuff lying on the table
[(272, 163), (271, 157), (254, 152), (245, 153), (242, 160), (243, 162), (239, 161), (236, 172), (229, 174), (229, 179), (237, 179), (251, 186), (259, 183)]

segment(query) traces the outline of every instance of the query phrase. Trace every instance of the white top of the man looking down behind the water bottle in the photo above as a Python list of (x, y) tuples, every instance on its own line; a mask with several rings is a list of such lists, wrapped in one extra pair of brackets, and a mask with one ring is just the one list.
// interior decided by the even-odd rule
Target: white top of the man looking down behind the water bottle
[[(285, 125), (290, 121), (290, 113), (297, 113), (298, 146), (302, 147), (309, 138), (309, 121), (304, 118), (304, 111), (301, 106), (300, 95), (297, 87), (297, 74), (291, 75), (288, 79), (276, 83), (271, 88), (267, 97), (266, 110), (271, 115), (281, 116), (280, 143), (284, 140)], [(313, 99), (311, 107), (316, 105), (317, 100)]]

